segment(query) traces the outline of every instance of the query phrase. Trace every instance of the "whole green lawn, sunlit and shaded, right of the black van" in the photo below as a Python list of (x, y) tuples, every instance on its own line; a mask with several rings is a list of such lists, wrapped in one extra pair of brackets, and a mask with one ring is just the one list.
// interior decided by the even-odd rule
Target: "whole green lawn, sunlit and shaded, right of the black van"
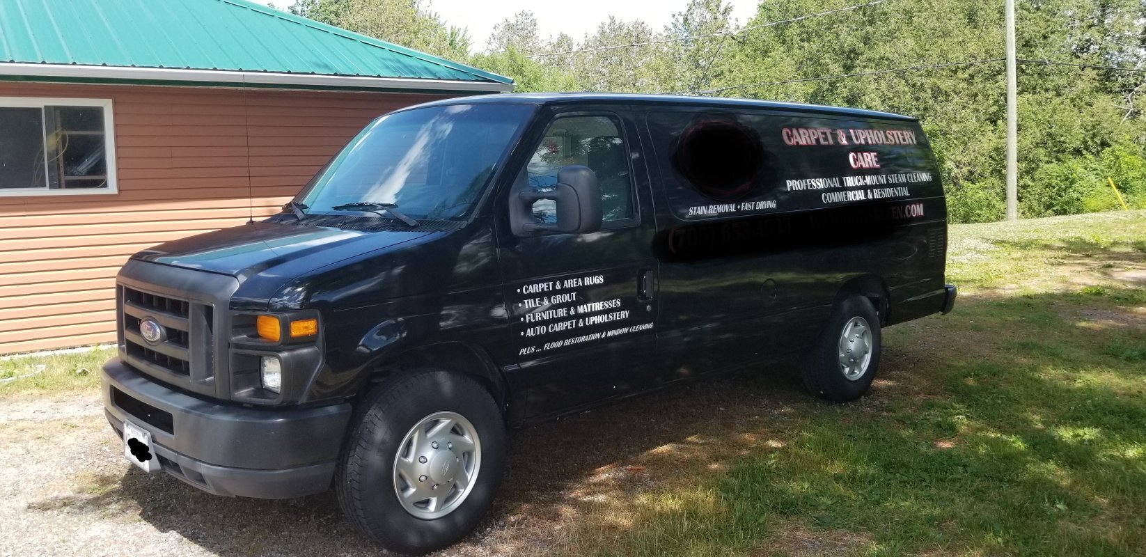
[(1146, 555), (1144, 237), (1141, 211), (952, 227), (964, 296), (885, 331), (887, 385), (798, 400), (774, 447), (666, 480), (562, 551)]

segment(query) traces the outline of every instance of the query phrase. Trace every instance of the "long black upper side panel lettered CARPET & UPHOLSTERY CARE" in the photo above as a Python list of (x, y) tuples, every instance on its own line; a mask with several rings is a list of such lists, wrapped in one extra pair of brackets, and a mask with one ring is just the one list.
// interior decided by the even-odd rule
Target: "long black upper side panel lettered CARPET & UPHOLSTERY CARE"
[(912, 121), (681, 109), (645, 124), (665, 199), (683, 221), (942, 195)]

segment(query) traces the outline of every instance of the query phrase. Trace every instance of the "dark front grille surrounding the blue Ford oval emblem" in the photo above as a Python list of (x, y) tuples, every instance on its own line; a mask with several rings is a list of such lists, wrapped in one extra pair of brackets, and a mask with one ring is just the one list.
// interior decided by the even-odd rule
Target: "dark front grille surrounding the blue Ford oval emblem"
[[(213, 376), (214, 308), (206, 304), (162, 296), (120, 285), (123, 295), (124, 351), (128, 363), (188, 379)], [(165, 336), (152, 344), (143, 338), (140, 323), (157, 322)]]

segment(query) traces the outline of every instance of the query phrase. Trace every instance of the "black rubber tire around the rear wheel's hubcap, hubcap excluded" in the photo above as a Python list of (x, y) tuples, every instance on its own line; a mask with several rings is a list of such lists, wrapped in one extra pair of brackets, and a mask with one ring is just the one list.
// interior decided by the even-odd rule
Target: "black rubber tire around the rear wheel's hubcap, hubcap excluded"
[[(865, 321), (871, 331), (870, 348), (868, 350), (871, 359), (862, 369), (862, 375), (848, 378), (848, 372), (845, 371), (840, 361), (841, 356), (846, 354), (846, 351), (841, 352), (840, 348), (841, 336), (848, 323), (857, 317)], [(872, 307), (871, 300), (863, 296), (845, 298), (832, 309), (823, 332), (819, 334), (819, 339), (816, 340), (811, 353), (808, 354), (802, 370), (803, 384), (813, 394), (832, 402), (856, 400), (871, 387), (871, 382), (879, 371), (881, 351), (879, 315)], [(854, 375), (856, 370), (853, 369), (849, 372)]]

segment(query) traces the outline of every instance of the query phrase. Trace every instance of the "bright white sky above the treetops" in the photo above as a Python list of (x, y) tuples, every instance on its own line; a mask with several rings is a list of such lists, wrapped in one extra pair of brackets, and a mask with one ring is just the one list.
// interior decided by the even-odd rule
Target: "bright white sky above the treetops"
[[(289, 6), (291, 0), (256, 0), (261, 3)], [(597, 29), (609, 15), (620, 19), (644, 19), (653, 30), (660, 31), (673, 18), (673, 14), (688, 6), (689, 0), (576, 0), (542, 1), (501, 0), (480, 2), (474, 0), (431, 0), (430, 9), (437, 11), (449, 25), (465, 28), (473, 41), (473, 52), (485, 50), (494, 25), (513, 14), (527, 9), (533, 11), (541, 28), (541, 36), (557, 36), (564, 32), (574, 40)], [(730, 0), (732, 17), (740, 26), (756, 11), (759, 0)]]

